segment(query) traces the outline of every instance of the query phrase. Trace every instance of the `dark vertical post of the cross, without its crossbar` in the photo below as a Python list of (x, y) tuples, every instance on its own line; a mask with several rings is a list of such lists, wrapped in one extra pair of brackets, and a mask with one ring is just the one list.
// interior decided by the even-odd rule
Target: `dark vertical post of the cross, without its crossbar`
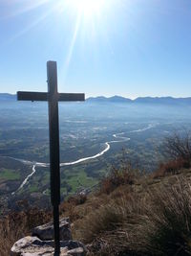
[(50, 170), (51, 201), (53, 205), (54, 256), (60, 253), (59, 204), (60, 204), (60, 167), (59, 167), (59, 121), (57, 67), (55, 61), (47, 62), (49, 133), (50, 133)]

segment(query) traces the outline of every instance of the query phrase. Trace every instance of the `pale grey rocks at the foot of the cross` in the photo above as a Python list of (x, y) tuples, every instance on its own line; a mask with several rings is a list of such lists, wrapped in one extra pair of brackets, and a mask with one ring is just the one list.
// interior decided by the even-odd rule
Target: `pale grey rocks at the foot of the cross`
[[(32, 236), (20, 239), (11, 247), (11, 256), (53, 256), (53, 222), (37, 226)], [(84, 256), (84, 244), (72, 240), (68, 218), (60, 220), (60, 256)]]

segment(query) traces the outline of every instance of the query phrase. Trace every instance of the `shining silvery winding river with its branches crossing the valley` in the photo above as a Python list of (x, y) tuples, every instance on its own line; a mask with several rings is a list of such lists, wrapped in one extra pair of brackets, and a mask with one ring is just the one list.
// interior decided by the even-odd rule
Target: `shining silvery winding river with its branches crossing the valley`
[[(157, 124), (149, 124), (147, 127), (145, 128), (141, 128), (141, 129), (136, 129), (136, 130), (132, 130), (130, 131), (129, 133), (134, 133), (134, 132), (142, 132), (142, 131), (145, 131), (147, 129), (150, 129), (150, 128), (155, 128), (157, 126)], [(91, 160), (91, 159), (95, 159), (101, 155), (103, 155), (104, 153), (106, 153), (107, 151), (110, 150), (111, 148), (111, 144), (113, 143), (119, 143), (119, 142), (126, 142), (126, 141), (129, 141), (130, 138), (127, 138), (127, 137), (123, 137), (121, 135), (123, 135), (124, 132), (121, 132), (121, 133), (116, 133), (116, 134), (113, 134), (113, 137), (116, 138), (117, 140), (112, 140), (112, 141), (107, 141), (105, 142), (105, 149), (96, 153), (95, 155), (92, 155), (92, 156), (88, 156), (88, 157), (84, 157), (84, 158), (80, 158), (78, 160), (75, 160), (75, 161), (72, 161), (72, 162), (65, 162), (65, 163), (60, 163), (60, 167), (63, 167), (63, 166), (70, 166), (70, 165), (76, 165), (76, 164), (79, 164), (79, 163), (82, 163), (82, 162), (85, 162), (85, 161), (88, 161), (88, 160)], [(29, 179), (32, 177), (32, 175), (35, 174), (36, 172), (36, 167), (49, 167), (50, 164), (49, 163), (40, 163), (40, 162), (35, 162), (35, 161), (28, 161), (28, 160), (24, 160), (24, 159), (19, 159), (19, 158), (13, 158), (13, 157), (10, 157), (16, 161), (19, 161), (23, 164), (26, 164), (26, 165), (30, 165), (32, 166), (32, 173), (30, 175), (28, 175), (24, 181), (22, 182), (22, 184), (19, 186), (19, 188), (15, 191), (15, 192), (12, 192), (11, 195), (14, 195), (16, 192), (18, 192), (19, 190), (21, 190), (29, 181)]]

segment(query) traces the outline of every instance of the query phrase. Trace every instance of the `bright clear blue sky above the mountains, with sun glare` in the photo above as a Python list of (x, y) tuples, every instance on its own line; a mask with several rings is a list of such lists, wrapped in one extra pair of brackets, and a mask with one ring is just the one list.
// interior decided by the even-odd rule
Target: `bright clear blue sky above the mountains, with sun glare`
[(56, 60), (60, 92), (191, 96), (190, 0), (76, 1), (0, 0), (0, 92), (47, 91)]

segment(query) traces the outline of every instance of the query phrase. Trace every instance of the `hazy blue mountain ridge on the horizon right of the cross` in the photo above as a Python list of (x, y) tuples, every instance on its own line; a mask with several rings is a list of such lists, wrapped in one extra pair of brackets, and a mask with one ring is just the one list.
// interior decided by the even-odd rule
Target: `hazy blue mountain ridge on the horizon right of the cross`
[(173, 98), (173, 97), (138, 97), (135, 100), (121, 96), (113, 97), (91, 97), (86, 100), (88, 103), (118, 103), (118, 104), (149, 104), (149, 105), (191, 105), (191, 97)]

